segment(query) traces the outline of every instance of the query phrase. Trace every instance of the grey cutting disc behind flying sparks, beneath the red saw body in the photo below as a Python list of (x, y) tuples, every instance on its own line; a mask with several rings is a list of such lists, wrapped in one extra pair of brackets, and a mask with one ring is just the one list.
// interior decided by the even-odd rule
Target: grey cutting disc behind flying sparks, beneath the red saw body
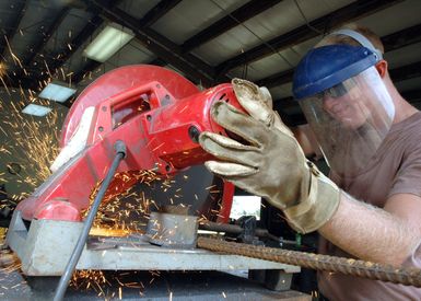
[(97, 227), (144, 230), (149, 213), (165, 211), (217, 221), (224, 182), (204, 165), (196, 165), (172, 177), (140, 181), (129, 190), (103, 202)]

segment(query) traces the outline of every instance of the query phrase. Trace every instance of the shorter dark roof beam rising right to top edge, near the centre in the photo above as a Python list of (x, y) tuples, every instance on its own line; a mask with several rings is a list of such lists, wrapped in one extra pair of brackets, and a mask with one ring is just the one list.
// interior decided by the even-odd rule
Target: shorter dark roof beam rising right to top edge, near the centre
[(218, 20), (209, 27), (202, 30), (198, 34), (187, 39), (182, 45), (182, 50), (188, 53), (191, 49), (207, 43), (208, 40), (227, 32), (229, 30), (237, 26), (238, 24), (258, 15), (259, 13), (272, 8), (282, 0), (252, 0), (243, 7), (236, 9), (226, 16)]

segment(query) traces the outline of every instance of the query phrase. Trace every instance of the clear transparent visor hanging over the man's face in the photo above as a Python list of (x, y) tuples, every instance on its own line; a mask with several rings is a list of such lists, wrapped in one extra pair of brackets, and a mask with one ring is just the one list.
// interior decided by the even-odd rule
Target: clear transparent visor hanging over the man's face
[(395, 106), (375, 67), (300, 101), (330, 169), (364, 172), (390, 129)]

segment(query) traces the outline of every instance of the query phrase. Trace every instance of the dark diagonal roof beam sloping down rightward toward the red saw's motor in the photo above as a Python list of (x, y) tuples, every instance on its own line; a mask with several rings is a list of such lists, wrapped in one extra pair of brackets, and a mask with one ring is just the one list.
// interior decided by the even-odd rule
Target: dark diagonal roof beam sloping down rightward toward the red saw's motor
[(130, 28), (144, 47), (184, 72), (192, 81), (201, 82), (208, 86), (214, 83), (213, 68), (198, 57), (191, 54), (182, 54), (178, 45), (151, 28), (140, 28), (139, 20), (118, 8), (104, 8), (102, 0), (90, 0), (90, 3), (102, 9), (101, 14), (105, 19)]

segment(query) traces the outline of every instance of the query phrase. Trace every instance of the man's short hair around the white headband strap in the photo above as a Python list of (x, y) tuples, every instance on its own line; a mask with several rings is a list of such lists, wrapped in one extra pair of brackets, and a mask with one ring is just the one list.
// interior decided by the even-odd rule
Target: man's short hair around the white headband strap
[[(365, 26), (362, 26), (362, 25), (358, 25), (355, 23), (344, 25), (340, 30), (351, 30), (351, 31), (354, 31), (354, 32), (362, 34), (373, 44), (373, 46), (375, 48), (381, 50), (382, 54), (385, 53), (385, 48), (383, 46), (381, 38), (372, 30), (370, 30)], [(360, 46), (360, 43), (350, 36), (347, 36), (347, 35), (327, 35), (319, 43), (317, 43), (316, 46), (314, 46), (314, 47), (317, 48), (320, 46), (332, 45), (332, 44), (348, 44), (348, 45)]]

